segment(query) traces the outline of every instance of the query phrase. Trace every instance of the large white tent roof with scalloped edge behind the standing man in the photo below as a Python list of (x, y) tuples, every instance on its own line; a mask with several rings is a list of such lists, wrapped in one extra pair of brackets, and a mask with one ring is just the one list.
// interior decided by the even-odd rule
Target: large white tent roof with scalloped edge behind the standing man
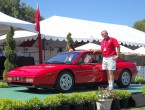
[[(145, 33), (125, 25), (86, 21), (74, 18), (52, 16), (41, 21), (41, 33), (46, 39), (66, 40), (70, 32), (77, 41), (102, 40), (101, 31), (107, 30), (109, 36), (117, 38), (119, 43), (131, 46), (145, 46)], [(141, 39), (141, 40), (140, 40)]]

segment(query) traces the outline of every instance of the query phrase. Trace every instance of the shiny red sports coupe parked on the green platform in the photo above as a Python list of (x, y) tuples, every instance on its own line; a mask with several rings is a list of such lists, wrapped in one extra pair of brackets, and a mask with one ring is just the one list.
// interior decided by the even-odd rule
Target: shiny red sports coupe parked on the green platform
[[(136, 64), (117, 59), (114, 71), (115, 83), (126, 88), (137, 74)], [(62, 52), (45, 64), (23, 66), (6, 75), (10, 85), (29, 89), (53, 87), (68, 92), (76, 85), (107, 83), (106, 71), (102, 70), (102, 55), (93, 51)]]

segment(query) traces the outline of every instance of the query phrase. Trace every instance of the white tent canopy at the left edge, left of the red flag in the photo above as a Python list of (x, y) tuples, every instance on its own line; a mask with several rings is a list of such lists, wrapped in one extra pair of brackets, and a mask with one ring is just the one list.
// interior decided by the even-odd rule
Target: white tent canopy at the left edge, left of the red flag
[(36, 32), (33, 23), (19, 20), (0, 12), (0, 35), (6, 34), (10, 26), (13, 26), (14, 29)]

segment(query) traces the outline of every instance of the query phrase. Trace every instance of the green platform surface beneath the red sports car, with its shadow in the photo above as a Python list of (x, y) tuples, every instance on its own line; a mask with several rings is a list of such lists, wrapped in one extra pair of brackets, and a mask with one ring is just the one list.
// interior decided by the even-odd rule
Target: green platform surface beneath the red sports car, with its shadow
[[(128, 90), (129, 92), (134, 93), (134, 92), (140, 92), (142, 86), (145, 85), (131, 84), (128, 88), (120, 89), (116, 87), (115, 90)], [(86, 92), (86, 91), (92, 91), (96, 89), (97, 88), (91, 88), (91, 89), (79, 88), (74, 92)], [(0, 88), (0, 98), (10, 98), (14, 100), (23, 100), (23, 101), (28, 100), (32, 97), (39, 97), (40, 99), (44, 99), (47, 96), (55, 95), (55, 94), (57, 93), (54, 90), (46, 90), (46, 89), (30, 91), (25, 87)]]

